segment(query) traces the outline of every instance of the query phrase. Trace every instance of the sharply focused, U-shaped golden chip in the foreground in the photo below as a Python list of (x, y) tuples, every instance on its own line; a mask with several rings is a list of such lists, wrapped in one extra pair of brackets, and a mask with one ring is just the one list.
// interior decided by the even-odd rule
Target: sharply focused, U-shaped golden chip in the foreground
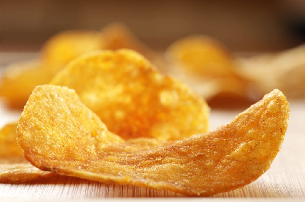
[(17, 141), (45, 171), (209, 196), (262, 175), (281, 148), (288, 117), (288, 102), (276, 89), (215, 131), (141, 148), (109, 132), (74, 90), (43, 85), (23, 110)]

